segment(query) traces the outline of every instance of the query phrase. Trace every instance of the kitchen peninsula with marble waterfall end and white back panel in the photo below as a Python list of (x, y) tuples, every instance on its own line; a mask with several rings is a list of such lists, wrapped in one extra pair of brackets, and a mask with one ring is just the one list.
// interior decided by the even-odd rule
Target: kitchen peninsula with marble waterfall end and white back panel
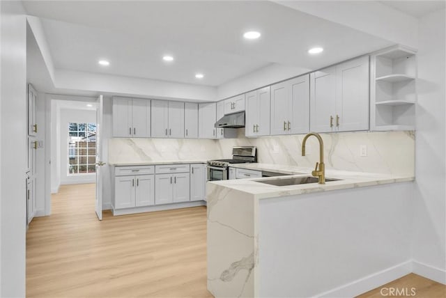
[(328, 169), (339, 180), (275, 186), (262, 181), (312, 168), (234, 166), (288, 175), (208, 182), (215, 297), (351, 297), (410, 272), (413, 176)]

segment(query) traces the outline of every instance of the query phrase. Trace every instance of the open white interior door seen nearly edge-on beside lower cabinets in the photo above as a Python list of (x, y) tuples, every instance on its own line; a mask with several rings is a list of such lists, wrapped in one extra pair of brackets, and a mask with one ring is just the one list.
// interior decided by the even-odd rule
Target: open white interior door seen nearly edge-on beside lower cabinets
[(101, 168), (105, 164), (102, 162), (102, 143), (101, 143), (101, 130), (102, 130), (102, 95), (99, 95), (98, 107), (96, 108), (96, 200), (95, 211), (98, 215), (98, 219), (102, 221), (102, 175)]

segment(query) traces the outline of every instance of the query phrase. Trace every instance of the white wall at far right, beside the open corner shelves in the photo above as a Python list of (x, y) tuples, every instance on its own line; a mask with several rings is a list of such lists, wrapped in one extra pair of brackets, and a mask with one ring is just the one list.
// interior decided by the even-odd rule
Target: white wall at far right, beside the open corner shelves
[(414, 266), (414, 271), (443, 283), (446, 283), (445, 34), (445, 10), (420, 19), (413, 223), (413, 258), (421, 263)]

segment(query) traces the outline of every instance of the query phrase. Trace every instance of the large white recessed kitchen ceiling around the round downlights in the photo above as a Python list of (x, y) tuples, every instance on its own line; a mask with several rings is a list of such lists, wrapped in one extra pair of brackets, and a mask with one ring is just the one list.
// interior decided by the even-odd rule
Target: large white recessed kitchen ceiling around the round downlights
[[(270, 63), (317, 69), (392, 42), (268, 1), (24, 1), (55, 68), (219, 86)], [(243, 40), (247, 30), (262, 33)], [(307, 49), (325, 48), (309, 56)], [(164, 63), (171, 54), (174, 63)], [(111, 65), (100, 67), (107, 58)], [(203, 72), (205, 78), (194, 78)]]

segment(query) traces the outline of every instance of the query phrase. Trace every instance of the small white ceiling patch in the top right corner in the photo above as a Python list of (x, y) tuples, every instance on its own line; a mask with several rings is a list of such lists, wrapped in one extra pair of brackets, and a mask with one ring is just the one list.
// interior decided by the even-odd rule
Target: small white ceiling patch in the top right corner
[(406, 15), (412, 15), (413, 17), (423, 17), (433, 11), (445, 9), (446, 1), (379, 1), (387, 6), (390, 6), (396, 10), (406, 13)]

